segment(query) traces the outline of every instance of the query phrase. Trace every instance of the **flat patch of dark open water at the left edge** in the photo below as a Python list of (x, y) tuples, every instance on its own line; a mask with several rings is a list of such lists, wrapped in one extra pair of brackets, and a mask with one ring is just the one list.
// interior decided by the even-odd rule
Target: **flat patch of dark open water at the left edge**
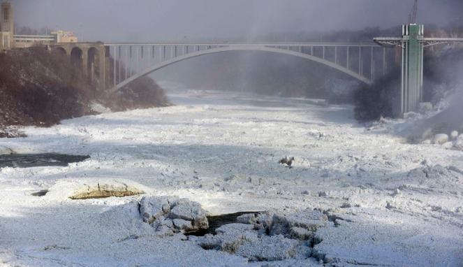
[(68, 166), (69, 163), (84, 161), (90, 156), (43, 153), (0, 155), (0, 168), (30, 168), (41, 166)]

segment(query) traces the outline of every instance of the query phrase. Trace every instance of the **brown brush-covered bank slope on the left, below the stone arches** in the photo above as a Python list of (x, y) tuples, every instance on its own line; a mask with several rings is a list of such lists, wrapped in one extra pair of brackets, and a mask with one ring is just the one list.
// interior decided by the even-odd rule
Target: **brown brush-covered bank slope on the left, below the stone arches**
[(0, 54), (0, 127), (50, 126), (60, 120), (91, 115), (91, 103), (111, 110), (166, 106), (156, 82), (141, 78), (119, 94), (98, 91), (78, 66), (44, 48)]

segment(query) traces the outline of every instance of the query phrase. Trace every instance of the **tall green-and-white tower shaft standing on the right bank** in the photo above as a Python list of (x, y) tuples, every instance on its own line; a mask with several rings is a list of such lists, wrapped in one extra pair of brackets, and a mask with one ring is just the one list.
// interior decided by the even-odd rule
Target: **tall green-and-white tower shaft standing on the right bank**
[(400, 114), (417, 111), (422, 101), (423, 25), (402, 26), (402, 85)]

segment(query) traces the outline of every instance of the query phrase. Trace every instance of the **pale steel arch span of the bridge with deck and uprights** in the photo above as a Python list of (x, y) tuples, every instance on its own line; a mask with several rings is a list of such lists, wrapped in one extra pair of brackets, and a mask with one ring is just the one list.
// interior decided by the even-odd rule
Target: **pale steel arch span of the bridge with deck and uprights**
[(105, 43), (108, 83), (117, 92), (144, 75), (193, 57), (228, 51), (263, 51), (318, 62), (365, 82), (387, 72), (385, 48), (365, 43)]

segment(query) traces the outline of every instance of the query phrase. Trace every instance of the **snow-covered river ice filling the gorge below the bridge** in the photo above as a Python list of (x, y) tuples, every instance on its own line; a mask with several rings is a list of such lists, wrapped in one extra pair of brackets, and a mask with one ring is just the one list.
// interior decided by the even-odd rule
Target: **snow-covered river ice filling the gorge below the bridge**
[[(1, 168), (0, 266), (263, 264), (204, 250), (182, 234), (152, 234), (138, 213), (142, 195), (69, 199), (112, 184), (187, 198), (210, 215), (325, 213), (311, 257), (276, 266), (462, 266), (461, 150), (407, 144), (362, 127), (351, 106), (324, 101), (207, 92), (170, 100), (176, 106), (24, 127), (27, 138), (1, 139), (17, 153), (91, 158)], [(279, 164), (285, 157), (294, 157), (291, 166)]]

